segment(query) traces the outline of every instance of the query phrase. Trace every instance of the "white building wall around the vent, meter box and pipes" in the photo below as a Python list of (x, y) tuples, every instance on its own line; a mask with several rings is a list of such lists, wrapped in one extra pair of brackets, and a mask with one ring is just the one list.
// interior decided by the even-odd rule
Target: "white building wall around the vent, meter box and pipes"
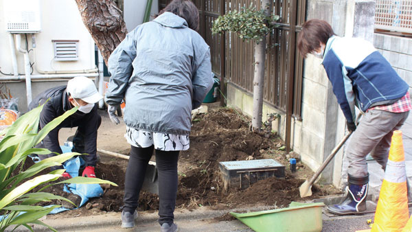
[[(8, 0), (3, 0), (8, 1)], [(0, 1), (0, 9), (3, 9)], [(0, 14), (0, 67), (3, 73), (12, 73), (9, 32), (5, 30), (5, 19)], [(34, 62), (33, 74), (38, 71), (73, 71), (94, 69), (94, 42), (82, 22), (76, 1), (41, 0), (41, 32), (34, 34), (36, 47), (32, 45), (32, 34), (22, 34), (21, 47), (26, 47), (25, 35), (30, 51), (30, 62)], [(52, 40), (79, 40), (76, 61), (54, 60)], [(16, 52), (19, 73), (24, 73), (23, 54)], [(37, 71), (38, 70), (38, 71)]]

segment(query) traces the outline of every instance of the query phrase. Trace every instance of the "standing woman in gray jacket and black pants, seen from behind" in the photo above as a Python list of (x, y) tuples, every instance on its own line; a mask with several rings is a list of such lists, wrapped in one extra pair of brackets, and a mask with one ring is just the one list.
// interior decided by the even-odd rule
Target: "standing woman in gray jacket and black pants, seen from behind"
[(126, 170), (122, 227), (134, 227), (139, 192), (153, 150), (159, 172), (161, 231), (176, 231), (174, 207), (177, 161), (189, 148), (191, 112), (213, 85), (210, 51), (198, 30), (198, 10), (174, 0), (156, 19), (141, 24), (108, 59), (111, 80), (105, 101), (111, 120), (125, 99), (126, 139), (131, 145)]

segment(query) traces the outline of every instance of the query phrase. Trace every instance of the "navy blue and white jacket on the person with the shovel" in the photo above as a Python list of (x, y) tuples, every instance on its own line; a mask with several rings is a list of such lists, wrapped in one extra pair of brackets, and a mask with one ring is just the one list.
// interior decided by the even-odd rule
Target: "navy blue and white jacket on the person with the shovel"
[(355, 105), (365, 112), (392, 104), (409, 88), (374, 46), (361, 38), (330, 37), (322, 64), (349, 122), (356, 119)]

